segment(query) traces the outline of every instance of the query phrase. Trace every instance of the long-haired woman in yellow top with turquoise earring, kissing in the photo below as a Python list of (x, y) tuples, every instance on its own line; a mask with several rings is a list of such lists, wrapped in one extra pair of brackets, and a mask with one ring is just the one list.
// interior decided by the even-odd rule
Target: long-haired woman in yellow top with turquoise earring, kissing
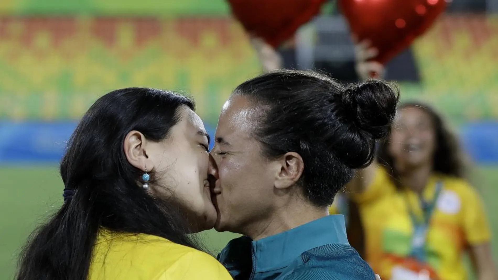
[(63, 156), (64, 204), (33, 233), (16, 279), (232, 279), (187, 235), (217, 217), (208, 144), (186, 97), (142, 88), (101, 97)]

